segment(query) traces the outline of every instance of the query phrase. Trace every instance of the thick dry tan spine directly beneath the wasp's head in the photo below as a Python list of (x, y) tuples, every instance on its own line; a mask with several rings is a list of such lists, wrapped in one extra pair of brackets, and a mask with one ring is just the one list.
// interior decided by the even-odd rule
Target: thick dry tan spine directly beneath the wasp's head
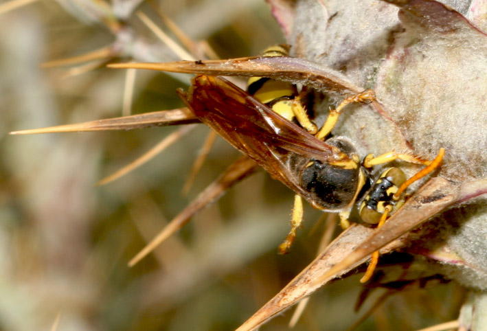
[(407, 246), (407, 238), (401, 236), (447, 207), (473, 197), (473, 192), (476, 196), (485, 194), (486, 184), (487, 181), (476, 181), (455, 185), (436, 177), (421, 187), (383, 227), (374, 230), (352, 225), (238, 330), (257, 328), (330, 280), (352, 271), (381, 247), (384, 247), (381, 253), (387, 253)]

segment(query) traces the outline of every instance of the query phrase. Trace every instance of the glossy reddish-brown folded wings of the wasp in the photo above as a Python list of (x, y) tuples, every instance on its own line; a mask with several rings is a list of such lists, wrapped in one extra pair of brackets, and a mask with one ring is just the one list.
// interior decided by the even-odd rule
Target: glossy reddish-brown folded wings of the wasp
[(305, 192), (289, 169), (290, 153), (325, 163), (347, 159), (223, 78), (197, 76), (183, 101), (201, 122), (300, 194)]

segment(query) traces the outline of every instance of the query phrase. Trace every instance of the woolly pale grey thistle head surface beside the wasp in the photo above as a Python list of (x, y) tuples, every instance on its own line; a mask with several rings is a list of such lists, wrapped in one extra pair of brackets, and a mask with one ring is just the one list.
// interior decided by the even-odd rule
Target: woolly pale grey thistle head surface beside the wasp
[[(269, 2), (295, 56), (374, 89), (391, 119), (356, 106), (334, 135), (351, 139), (362, 156), (396, 150), (433, 159), (443, 147), (436, 176), (455, 185), (485, 183), (487, 36), (479, 16), (485, 1)], [(416, 229), (406, 250), (427, 256), (446, 277), (485, 290), (486, 215), (479, 194)]]

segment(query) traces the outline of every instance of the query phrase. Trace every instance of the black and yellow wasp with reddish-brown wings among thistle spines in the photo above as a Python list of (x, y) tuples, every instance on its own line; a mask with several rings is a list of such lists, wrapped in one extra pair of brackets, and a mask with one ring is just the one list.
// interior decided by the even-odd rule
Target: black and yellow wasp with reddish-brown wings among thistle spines
[[(264, 53), (284, 55), (282, 48)], [(371, 90), (343, 100), (330, 110), (319, 130), (308, 118), (296, 87), (288, 82), (254, 77), (244, 91), (224, 78), (201, 75), (192, 80), (188, 92), (179, 90), (179, 95), (201, 122), (296, 193), (291, 231), (280, 253), (291, 247), (301, 225), (302, 198), (324, 212), (339, 213), (343, 228), (350, 225), (350, 212), (361, 202), (361, 218), (377, 224), (400, 207), (404, 190), (437, 168), (442, 158), (440, 153), (427, 161), (393, 151), (367, 155), (361, 161), (349, 139), (329, 137), (346, 105), (374, 100)], [(427, 167), (411, 179), (399, 168), (388, 168), (378, 179), (372, 178), (374, 165), (398, 159)]]

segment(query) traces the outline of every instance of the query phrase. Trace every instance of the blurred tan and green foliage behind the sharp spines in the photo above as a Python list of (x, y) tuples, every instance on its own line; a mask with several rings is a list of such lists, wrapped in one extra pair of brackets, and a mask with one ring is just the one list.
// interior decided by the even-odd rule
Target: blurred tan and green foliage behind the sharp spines
[[(309, 206), (291, 253), (277, 255), (293, 193), (258, 172), (129, 269), (128, 260), (238, 152), (217, 140), (183, 196), (208, 133), (204, 126), (102, 187), (94, 183), (176, 128), (8, 135), (122, 115), (124, 71), (104, 63), (81, 74), (76, 65), (40, 67), (113, 43), (120, 36), (93, 13), (109, 5), (122, 12), (122, 3), (34, 1), (0, 16), (1, 330), (49, 330), (58, 312), (57, 330), (232, 330), (315, 256), (323, 225), (315, 227), (320, 212)], [(261, 0), (163, 0), (157, 7), (221, 58), (256, 55), (284, 42)], [(138, 9), (164, 26), (148, 3)], [(146, 49), (170, 54), (137, 16), (128, 16), (126, 26), (136, 36), (129, 45), (143, 38)], [(174, 91), (188, 82), (188, 76), (138, 71), (133, 113), (181, 106)], [(345, 330), (360, 316), (353, 312), (360, 290), (354, 276), (319, 291), (295, 330)], [(462, 295), (453, 283), (394, 295), (357, 330), (412, 330), (455, 319)], [(283, 330), (290, 317), (286, 312), (262, 330)]]

